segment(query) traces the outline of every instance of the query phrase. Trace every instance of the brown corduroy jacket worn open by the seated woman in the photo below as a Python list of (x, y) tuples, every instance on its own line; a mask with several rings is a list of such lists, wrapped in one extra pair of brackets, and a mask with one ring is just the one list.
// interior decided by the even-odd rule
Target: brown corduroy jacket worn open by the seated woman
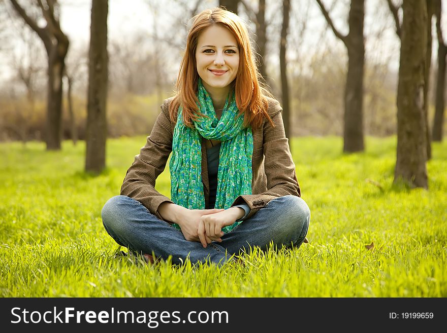
[[(134, 163), (127, 170), (121, 186), (121, 195), (141, 202), (152, 214), (158, 214), (158, 206), (172, 202), (155, 190), (155, 179), (165, 169), (172, 151), (172, 137), (175, 123), (170, 120), (168, 107), (172, 98), (162, 105), (146, 145), (135, 156)], [(258, 129), (253, 129), (252, 181), (250, 195), (236, 198), (232, 206), (246, 203), (251, 217), (270, 200), (285, 195), (301, 196), (295, 172), (295, 164), (289, 150), (289, 139), (285, 137), (281, 116), (282, 108), (278, 101), (269, 99), (268, 114), (275, 126), (264, 118)], [(205, 140), (202, 139), (202, 182), (205, 207), (208, 208), (209, 182)]]

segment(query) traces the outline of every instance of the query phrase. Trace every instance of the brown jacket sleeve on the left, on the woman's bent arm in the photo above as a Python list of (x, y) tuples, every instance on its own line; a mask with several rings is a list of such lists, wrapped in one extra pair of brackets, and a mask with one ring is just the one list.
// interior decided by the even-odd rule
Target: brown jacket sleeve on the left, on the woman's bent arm
[(121, 195), (141, 202), (152, 214), (163, 219), (157, 209), (163, 202), (172, 202), (155, 190), (155, 180), (166, 167), (172, 151), (172, 128), (168, 113), (168, 103), (162, 105), (146, 144), (134, 163), (127, 170), (121, 186)]

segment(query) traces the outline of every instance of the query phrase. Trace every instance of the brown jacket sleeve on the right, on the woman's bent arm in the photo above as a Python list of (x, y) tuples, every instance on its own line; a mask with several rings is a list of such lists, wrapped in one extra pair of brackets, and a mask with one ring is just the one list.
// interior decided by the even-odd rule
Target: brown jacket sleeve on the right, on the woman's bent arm
[(267, 121), (263, 129), (264, 168), (267, 176), (267, 191), (261, 194), (239, 196), (232, 205), (246, 203), (250, 208), (250, 213), (246, 218), (251, 217), (275, 198), (286, 195), (301, 196), (295, 164), (289, 149), (289, 139), (285, 136), (282, 109), (271, 118), (275, 126), (272, 126)]

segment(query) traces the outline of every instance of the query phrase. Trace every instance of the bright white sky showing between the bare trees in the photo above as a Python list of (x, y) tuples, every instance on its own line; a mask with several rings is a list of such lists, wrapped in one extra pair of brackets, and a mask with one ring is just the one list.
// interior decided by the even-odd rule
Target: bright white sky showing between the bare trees
[[(193, 0), (190, 0), (193, 1)], [(126, 36), (132, 35), (135, 31), (138, 30), (147, 30), (151, 31), (152, 26), (152, 17), (151, 10), (148, 5), (148, 0), (109, 0), (109, 13), (108, 13), (108, 39), (109, 41), (122, 41), (125, 40)], [(256, 3), (256, 1), (247, 0), (248, 3)], [(332, 0), (325, 0), (326, 7), (329, 8)], [(90, 6), (91, 0), (59, 0), (61, 6), (61, 17), (60, 24), (62, 30), (68, 34), (71, 42), (71, 48), (79, 48), (80, 46), (88, 46), (89, 43), (89, 34), (90, 34)], [(171, 20), (168, 17), (163, 17), (167, 12), (175, 10), (175, 2), (166, 0), (158, 0), (157, 4), (161, 4), (163, 8), (163, 4), (170, 4), (172, 8), (169, 8), (167, 11), (161, 11), (158, 16), (158, 20), (162, 25), (162, 29), (169, 29), (169, 22)], [(217, 0), (203, 0), (205, 6), (211, 7), (217, 4)], [(267, 1), (270, 8), (276, 6), (276, 10), (280, 9), (279, 2), (275, 2), (275, 0)], [(312, 40), (312, 34), (317, 35), (318, 30), (326, 29), (327, 24), (321, 14), (320, 10), (316, 6), (316, 2), (314, 0), (296, 0), (293, 2), (295, 4), (295, 21), (301, 18), (301, 14), (303, 11), (304, 5), (309, 6), (311, 4), (311, 11), (309, 13), (309, 35), (303, 41), (304, 43), (310, 43), (309, 47), (313, 47), (315, 50), (315, 45), (311, 43), (315, 43), (315, 38)], [(303, 5), (304, 4), (304, 5)], [(346, 18), (347, 18), (347, 8), (348, 1), (337, 1), (335, 11), (332, 11), (332, 18), (335, 22), (337, 28), (342, 32), (347, 32), (346, 27)], [(387, 11), (388, 8), (386, 6), (385, 0), (368, 0), (366, 1), (366, 17), (365, 17), (365, 33), (369, 29), (374, 29), (378, 24), (374, 20), (376, 20), (375, 13), (377, 12), (377, 8), (381, 11)], [(278, 7), (279, 6), (279, 7)], [(444, 21), (447, 20), (447, 6), (443, 6), (444, 11)], [(337, 13), (338, 10), (338, 13)], [(387, 14), (385, 14), (387, 15)], [(391, 17), (391, 16), (390, 16)], [(445, 21), (447, 23), (447, 21)], [(391, 21), (391, 24), (394, 22)], [(445, 26), (445, 24), (444, 24)], [(447, 34), (447, 31), (446, 33)], [(127, 37), (128, 38), (128, 37)], [(340, 47), (344, 49), (344, 46), (338, 41), (332, 31), (327, 31), (325, 38), (328, 39), (328, 43), (333, 43), (334, 46)], [(437, 44), (436, 44), (436, 35), (434, 34), (434, 45), (433, 45), (433, 56), (436, 55)], [(332, 44), (331, 44), (332, 45)], [(371, 56), (371, 54), (378, 55), (377, 57), (382, 57), (387, 59), (389, 67), (397, 71), (399, 66), (399, 47), (400, 44), (396, 40), (396, 36), (394, 33), (394, 29), (392, 25), (385, 32), (385, 34), (380, 36), (380, 40), (373, 42), (372, 38), (367, 40), (366, 52), (367, 56)], [(305, 49), (305, 45), (299, 45), (301, 52)], [(290, 48), (289, 55), (293, 57), (293, 48)], [(345, 51), (345, 50), (344, 50)], [(392, 54), (390, 57), (389, 54)], [(269, 58), (269, 61), (274, 62), (277, 61), (277, 56), (272, 56)], [(4, 60), (5, 61), (5, 60)], [(3, 62), (4, 62), (3, 61)], [(0, 61), (0, 64), (2, 61)], [(2, 66), (3, 67), (3, 66)], [(0, 73), (0, 76), (3, 75), (5, 77), (6, 70), (2, 70), (3, 73)]]

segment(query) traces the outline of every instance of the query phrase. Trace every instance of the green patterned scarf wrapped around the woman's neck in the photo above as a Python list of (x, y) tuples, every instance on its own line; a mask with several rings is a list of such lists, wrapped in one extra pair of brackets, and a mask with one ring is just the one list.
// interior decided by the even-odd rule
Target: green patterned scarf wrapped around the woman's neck
[[(217, 119), (213, 102), (199, 79), (198, 107), (205, 117), (194, 121), (194, 127), (183, 124), (182, 108), (179, 107), (177, 124), (172, 140), (172, 156), (169, 162), (171, 173), (171, 200), (188, 209), (205, 209), (202, 183), (202, 136), (222, 141), (219, 150), (217, 172), (217, 193), (215, 208), (230, 208), (239, 195), (251, 194), (251, 157), (253, 135), (251, 127), (243, 127), (243, 117), (237, 117), (239, 110), (234, 92), (223, 107), (220, 120)], [(239, 222), (222, 228), (229, 232)], [(180, 229), (178, 225), (174, 227)]]

